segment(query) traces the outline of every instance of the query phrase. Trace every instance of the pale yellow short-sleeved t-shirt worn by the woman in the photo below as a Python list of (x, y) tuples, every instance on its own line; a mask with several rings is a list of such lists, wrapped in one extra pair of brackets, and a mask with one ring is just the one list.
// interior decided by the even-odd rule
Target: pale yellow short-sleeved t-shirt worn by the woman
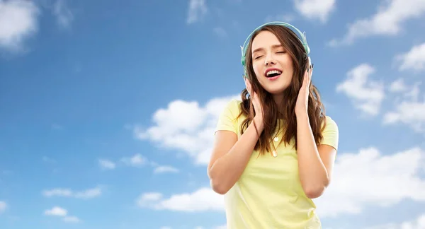
[[(231, 100), (220, 114), (218, 130), (233, 131), (241, 136), (239, 127), (245, 119), (239, 114), (239, 100)], [(338, 127), (327, 118), (322, 144), (338, 149)], [(282, 133), (273, 141), (278, 151), (259, 155), (254, 151), (242, 176), (225, 194), (228, 229), (319, 229), (322, 228), (316, 206), (309, 199), (298, 176), (297, 153), (294, 141), (285, 147), (280, 143)]]

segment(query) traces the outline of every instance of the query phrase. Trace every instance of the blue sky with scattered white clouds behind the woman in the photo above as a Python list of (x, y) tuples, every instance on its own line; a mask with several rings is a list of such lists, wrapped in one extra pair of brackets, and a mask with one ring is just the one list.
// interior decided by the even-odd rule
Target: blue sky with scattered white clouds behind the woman
[(421, 0), (0, 0), (0, 228), (225, 226), (213, 130), (270, 20), (339, 125), (324, 228), (425, 228)]

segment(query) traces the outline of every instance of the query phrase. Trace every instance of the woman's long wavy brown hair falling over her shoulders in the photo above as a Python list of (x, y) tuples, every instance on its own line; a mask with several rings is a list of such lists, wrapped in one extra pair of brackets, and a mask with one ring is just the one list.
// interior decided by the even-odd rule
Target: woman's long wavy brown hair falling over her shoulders
[[(280, 105), (276, 105), (271, 93), (268, 93), (268, 91), (261, 86), (256, 78), (254, 69), (252, 68), (252, 40), (254, 40), (256, 35), (258, 35), (261, 31), (269, 31), (276, 35), (280, 44), (283, 45), (293, 60), (292, 81), (290, 86), (288, 86), (288, 88), (286, 88), (283, 92), (284, 96), (283, 100), (280, 101)], [(286, 145), (290, 144), (290, 141), (294, 139), (294, 147), (297, 149), (297, 119), (295, 117), (295, 103), (297, 101), (298, 92), (302, 86), (305, 70), (307, 70), (308, 67), (307, 53), (305, 52), (305, 49), (297, 35), (295, 35), (292, 30), (281, 25), (266, 25), (260, 30), (257, 30), (256, 33), (252, 35), (248, 45), (245, 59), (247, 73), (249, 75), (249, 80), (251, 81), (252, 90), (254, 90), (259, 96), (259, 100), (263, 107), (264, 129), (259, 137), (259, 141), (256, 143), (255, 150), (260, 151), (261, 154), (271, 152), (273, 134), (279, 133), (280, 131), (283, 131), (283, 138), (280, 139), (280, 142), (284, 142)], [(322, 124), (323, 127), (326, 125), (324, 105), (320, 101), (319, 91), (312, 83), (310, 83), (309, 91), (307, 112), (310, 119), (310, 126), (312, 128), (314, 141), (319, 144), (323, 138)], [(239, 117), (244, 114), (246, 119), (244, 119), (240, 127), (241, 133), (244, 133), (244, 130), (252, 122), (255, 115), (251, 99), (250, 97), (247, 97), (247, 95), (248, 91), (244, 88), (241, 93), (242, 103), (240, 105), (241, 112)], [(283, 123), (285, 124), (283, 127), (278, 126), (278, 119), (283, 119)]]

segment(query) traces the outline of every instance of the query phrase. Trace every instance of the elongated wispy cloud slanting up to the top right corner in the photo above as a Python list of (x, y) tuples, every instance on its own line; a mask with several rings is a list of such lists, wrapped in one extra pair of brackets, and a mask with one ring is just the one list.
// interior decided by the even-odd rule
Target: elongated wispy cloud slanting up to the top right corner
[(348, 25), (348, 32), (341, 40), (331, 40), (331, 46), (350, 45), (354, 40), (373, 35), (397, 35), (407, 20), (425, 14), (424, 0), (382, 0), (377, 13)]

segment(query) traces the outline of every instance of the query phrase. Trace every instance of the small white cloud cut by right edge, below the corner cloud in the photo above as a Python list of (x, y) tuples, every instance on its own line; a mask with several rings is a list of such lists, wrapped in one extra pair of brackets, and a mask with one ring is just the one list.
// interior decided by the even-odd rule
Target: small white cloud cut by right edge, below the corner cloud
[(425, 42), (412, 47), (409, 52), (399, 54), (395, 57), (399, 64), (399, 70), (423, 71), (425, 70)]

